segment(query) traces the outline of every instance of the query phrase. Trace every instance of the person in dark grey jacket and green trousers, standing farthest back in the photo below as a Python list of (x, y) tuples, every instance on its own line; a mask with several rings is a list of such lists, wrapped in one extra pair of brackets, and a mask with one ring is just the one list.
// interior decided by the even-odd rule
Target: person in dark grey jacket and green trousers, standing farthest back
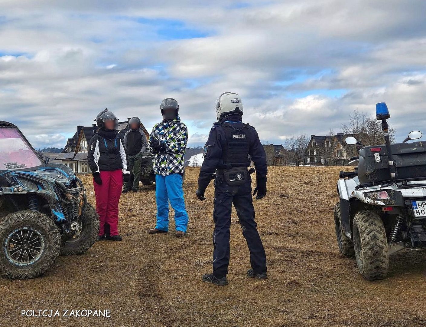
[[(133, 173), (132, 191), (139, 189), (139, 179), (141, 178), (142, 153), (147, 149), (147, 137), (141, 128), (141, 120), (133, 117), (129, 121), (131, 130), (124, 134), (124, 146), (127, 153), (127, 168)], [(123, 193), (129, 191), (129, 182), (124, 182)]]

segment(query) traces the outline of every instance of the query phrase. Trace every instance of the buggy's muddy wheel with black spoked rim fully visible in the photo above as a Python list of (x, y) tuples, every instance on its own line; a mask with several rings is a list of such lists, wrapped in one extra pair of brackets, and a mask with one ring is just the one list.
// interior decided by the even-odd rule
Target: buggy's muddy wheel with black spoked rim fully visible
[(17, 211), (0, 223), (0, 275), (29, 279), (50, 269), (59, 256), (60, 232), (38, 211)]

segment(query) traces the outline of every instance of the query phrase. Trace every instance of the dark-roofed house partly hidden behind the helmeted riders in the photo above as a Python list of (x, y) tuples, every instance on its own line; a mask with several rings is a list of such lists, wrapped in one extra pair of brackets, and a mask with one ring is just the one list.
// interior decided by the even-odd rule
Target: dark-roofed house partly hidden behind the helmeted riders
[[(130, 130), (129, 121), (130, 118), (127, 119), (127, 122), (118, 122), (118, 137), (122, 140), (124, 139), (124, 134)], [(148, 139), (150, 133), (148, 133), (143, 124), (141, 124), (141, 128)], [(90, 139), (92, 139), (97, 130), (98, 126), (96, 124), (92, 124), (92, 126), (77, 126), (74, 136), (67, 140), (65, 148), (55, 158), (55, 162), (68, 166), (78, 174), (92, 173), (87, 163), (87, 153)]]

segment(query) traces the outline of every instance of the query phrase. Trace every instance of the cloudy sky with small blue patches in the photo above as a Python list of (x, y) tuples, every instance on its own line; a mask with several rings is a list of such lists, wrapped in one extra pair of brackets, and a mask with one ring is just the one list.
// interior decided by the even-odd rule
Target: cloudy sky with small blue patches
[(397, 139), (426, 122), (426, 1), (1, 0), (0, 119), (63, 147), (108, 107), (150, 130), (176, 98), (190, 145), (239, 93), (261, 139), (340, 130), (386, 101)]

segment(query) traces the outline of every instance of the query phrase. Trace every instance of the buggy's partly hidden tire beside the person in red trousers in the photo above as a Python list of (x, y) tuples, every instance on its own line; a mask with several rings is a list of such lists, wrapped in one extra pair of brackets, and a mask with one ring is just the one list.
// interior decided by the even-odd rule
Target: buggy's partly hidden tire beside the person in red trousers
[(89, 203), (86, 205), (81, 223), (80, 237), (71, 238), (63, 243), (60, 249), (61, 255), (80, 255), (95, 243), (99, 234), (99, 216), (95, 208)]

